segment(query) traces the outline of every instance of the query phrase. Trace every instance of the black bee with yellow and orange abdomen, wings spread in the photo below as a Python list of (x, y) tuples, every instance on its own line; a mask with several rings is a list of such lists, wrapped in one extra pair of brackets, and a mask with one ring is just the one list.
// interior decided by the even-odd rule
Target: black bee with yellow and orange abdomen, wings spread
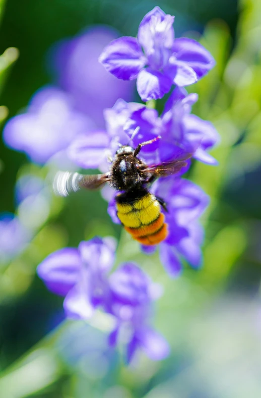
[(166, 203), (150, 192), (149, 186), (157, 178), (178, 173), (186, 166), (192, 154), (182, 154), (173, 161), (148, 165), (138, 155), (144, 145), (155, 142), (159, 137), (145, 141), (136, 149), (122, 145), (111, 162), (108, 173), (82, 175), (79, 173), (58, 172), (53, 189), (58, 195), (67, 196), (79, 189), (96, 189), (109, 183), (116, 191), (117, 216), (124, 229), (143, 245), (153, 246), (164, 241), (168, 235), (168, 225), (162, 208)]

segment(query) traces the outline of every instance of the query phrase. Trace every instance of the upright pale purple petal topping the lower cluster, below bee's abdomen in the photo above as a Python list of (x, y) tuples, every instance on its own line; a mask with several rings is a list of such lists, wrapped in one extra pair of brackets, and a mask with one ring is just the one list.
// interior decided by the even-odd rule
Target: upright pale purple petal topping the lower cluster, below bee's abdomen
[(81, 242), (79, 251), (84, 264), (92, 270), (108, 272), (114, 262), (116, 241), (112, 237), (93, 238), (88, 242)]

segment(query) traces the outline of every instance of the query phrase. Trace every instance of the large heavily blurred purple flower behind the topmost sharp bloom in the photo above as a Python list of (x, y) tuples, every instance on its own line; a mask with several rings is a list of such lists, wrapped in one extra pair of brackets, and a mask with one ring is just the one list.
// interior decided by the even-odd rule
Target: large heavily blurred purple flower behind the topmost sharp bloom
[(58, 83), (75, 100), (76, 108), (90, 116), (97, 128), (104, 126), (103, 109), (118, 98), (132, 99), (133, 84), (109, 74), (98, 62), (104, 46), (117, 37), (106, 26), (96, 26), (53, 48)]

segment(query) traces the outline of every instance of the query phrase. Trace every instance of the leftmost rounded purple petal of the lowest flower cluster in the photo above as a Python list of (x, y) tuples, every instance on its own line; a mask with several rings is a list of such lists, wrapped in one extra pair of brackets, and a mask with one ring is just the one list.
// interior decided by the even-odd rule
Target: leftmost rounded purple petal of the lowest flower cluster
[(81, 266), (78, 250), (65, 248), (43, 260), (37, 267), (37, 273), (51, 292), (66, 296), (77, 283)]

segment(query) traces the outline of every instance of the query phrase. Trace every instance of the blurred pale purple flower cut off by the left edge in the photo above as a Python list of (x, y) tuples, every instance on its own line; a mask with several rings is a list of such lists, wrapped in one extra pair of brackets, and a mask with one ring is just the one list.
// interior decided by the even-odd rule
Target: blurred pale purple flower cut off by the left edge
[(20, 254), (30, 238), (30, 232), (18, 217), (11, 213), (0, 214), (0, 264)]

